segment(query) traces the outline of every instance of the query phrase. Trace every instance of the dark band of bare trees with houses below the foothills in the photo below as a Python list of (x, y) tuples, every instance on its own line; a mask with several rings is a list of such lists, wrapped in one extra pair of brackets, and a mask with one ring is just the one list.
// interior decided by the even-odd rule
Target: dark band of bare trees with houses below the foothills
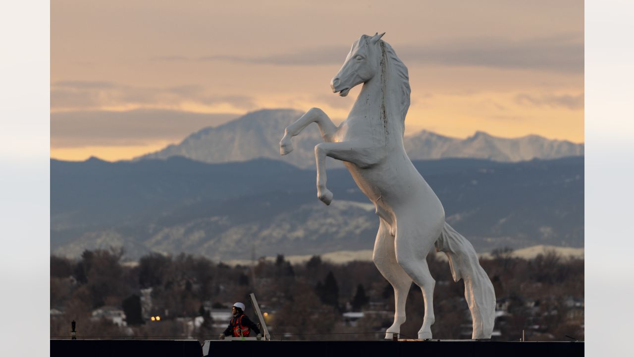
[[(75, 320), (80, 337), (215, 339), (228, 321), (214, 321), (210, 311), (230, 311), (236, 301), (249, 306), (252, 292), (276, 339), (379, 339), (393, 320), (392, 286), (372, 262), (333, 264), (314, 256), (291, 264), (278, 255), (252, 266), (229, 266), (152, 253), (129, 264), (123, 256), (122, 250), (86, 250), (79, 259), (51, 256), (51, 309), (58, 311), (51, 313), (51, 338), (66, 338)], [(453, 282), (446, 260), (434, 254), (427, 260), (436, 279), (434, 338), (469, 339), (462, 281)], [(527, 340), (583, 339), (583, 259), (553, 252), (520, 259), (501, 249), (481, 265), (498, 300), (499, 334), (493, 339), (517, 340), (522, 330)], [(93, 315), (105, 306), (123, 310), (127, 326)], [(422, 293), (412, 285), (403, 337), (417, 336), (423, 311)], [(257, 320), (250, 308), (247, 314)], [(150, 320), (159, 315), (160, 321)], [(197, 317), (199, 323), (187, 323)]]

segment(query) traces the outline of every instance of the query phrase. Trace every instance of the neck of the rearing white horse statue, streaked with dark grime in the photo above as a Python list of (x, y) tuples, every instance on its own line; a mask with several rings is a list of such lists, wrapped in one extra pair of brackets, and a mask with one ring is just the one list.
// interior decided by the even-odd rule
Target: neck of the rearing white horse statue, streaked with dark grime
[(381, 50), (379, 70), (363, 84), (346, 121), (355, 130), (365, 131), (365, 135), (384, 141), (385, 145), (403, 145), (404, 118), (398, 97), (402, 91), (383, 43)]

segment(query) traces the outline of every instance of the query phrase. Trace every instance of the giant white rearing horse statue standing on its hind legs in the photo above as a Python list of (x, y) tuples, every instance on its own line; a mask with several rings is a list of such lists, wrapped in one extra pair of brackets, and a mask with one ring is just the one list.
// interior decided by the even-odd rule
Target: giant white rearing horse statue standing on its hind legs
[[(384, 33), (385, 34), (385, 33)], [(373, 260), (394, 288), (394, 323), (386, 339), (400, 333), (411, 282), (420, 286), (425, 318), (419, 339), (431, 339), (434, 323), (434, 285), (426, 257), (434, 245), (446, 253), (453, 280), (464, 280), (465, 299), (472, 316), (472, 339), (490, 339), (495, 320), (495, 292), (480, 266), (473, 246), (444, 220), (443, 205), (418, 173), (403, 147), (404, 121), (410, 107), (407, 67), (384, 34), (361, 36), (353, 43), (333, 93), (345, 97), (354, 86), (363, 88), (350, 114), (339, 127), (321, 109), (310, 109), (288, 126), (280, 153), (293, 150), (291, 138), (317, 123), (325, 142), (315, 146), (317, 196), (326, 205), (332, 192), (326, 187), (326, 157), (344, 162), (359, 189), (374, 203), (379, 217)]]

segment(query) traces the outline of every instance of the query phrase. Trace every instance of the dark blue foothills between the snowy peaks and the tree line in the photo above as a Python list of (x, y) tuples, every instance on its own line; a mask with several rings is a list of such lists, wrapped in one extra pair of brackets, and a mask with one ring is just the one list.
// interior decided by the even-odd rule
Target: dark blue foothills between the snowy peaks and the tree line
[[(583, 246), (583, 157), (414, 165), (478, 252)], [(228, 261), (372, 249), (378, 219), (347, 170), (328, 170), (330, 206), (314, 180), (313, 170), (263, 158), (52, 159), (51, 252), (122, 246), (128, 259), (184, 252)]]

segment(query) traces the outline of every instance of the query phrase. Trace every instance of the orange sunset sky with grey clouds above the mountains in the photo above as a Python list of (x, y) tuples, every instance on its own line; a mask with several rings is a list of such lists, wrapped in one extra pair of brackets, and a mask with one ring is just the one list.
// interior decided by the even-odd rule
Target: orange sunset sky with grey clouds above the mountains
[[(410, 72), (406, 135), (583, 142), (583, 1), (51, 2), (51, 157), (131, 159), (263, 108), (346, 118), (361, 34)], [(281, 135), (282, 133), (280, 133)]]

